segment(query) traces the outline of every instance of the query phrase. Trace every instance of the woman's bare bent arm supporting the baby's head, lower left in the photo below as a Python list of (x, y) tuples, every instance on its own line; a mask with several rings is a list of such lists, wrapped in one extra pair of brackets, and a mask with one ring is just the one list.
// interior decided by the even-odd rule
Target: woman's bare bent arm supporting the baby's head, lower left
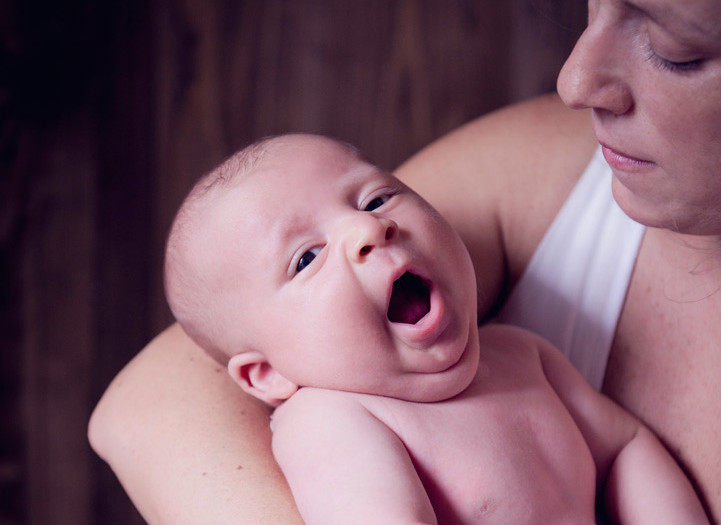
[(174, 325), (111, 383), (88, 436), (149, 523), (302, 523), (268, 416)]

